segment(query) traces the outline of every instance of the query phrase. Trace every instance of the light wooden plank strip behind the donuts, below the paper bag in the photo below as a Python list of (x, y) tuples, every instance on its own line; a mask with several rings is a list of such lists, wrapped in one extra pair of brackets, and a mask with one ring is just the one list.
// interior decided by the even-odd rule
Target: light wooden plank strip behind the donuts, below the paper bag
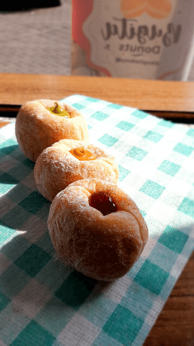
[[(184, 114), (194, 118), (194, 83), (63, 76), (48, 74), (0, 73), (0, 104), (20, 106), (37, 99), (63, 99), (85, 95), (146, 111)], [(176, 112), (176, 114), (174, 113)]]

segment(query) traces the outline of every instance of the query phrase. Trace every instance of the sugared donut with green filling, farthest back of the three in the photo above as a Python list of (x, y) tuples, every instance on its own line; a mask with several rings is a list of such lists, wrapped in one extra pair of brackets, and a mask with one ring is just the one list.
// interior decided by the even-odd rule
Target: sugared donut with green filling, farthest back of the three
[(24, 155), (36, 162), (40, 153), (63, 138), (88, 142), (82, 114), (64, 102), (36, 100), (25, 103), (16, 118), (16, 138)]

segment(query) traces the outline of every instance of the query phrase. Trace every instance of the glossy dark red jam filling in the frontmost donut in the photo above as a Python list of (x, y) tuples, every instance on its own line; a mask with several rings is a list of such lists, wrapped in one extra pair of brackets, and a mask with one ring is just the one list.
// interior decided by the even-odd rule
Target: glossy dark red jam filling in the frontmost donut
[(117, 211), (117, 206), (111, 196), (101, 191), (90, 196), (89, 205), (99, 210), (104, 216)]

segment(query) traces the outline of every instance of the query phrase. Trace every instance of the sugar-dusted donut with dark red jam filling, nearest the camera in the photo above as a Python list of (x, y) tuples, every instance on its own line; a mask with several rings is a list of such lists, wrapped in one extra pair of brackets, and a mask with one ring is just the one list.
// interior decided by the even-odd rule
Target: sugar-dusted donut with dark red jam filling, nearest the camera
[(75, 181), (53, 200), (48, 218), (53, 245), (65, 263), (96, 280), (125, 275), (148, 240), (133, 200), (117, 185)]

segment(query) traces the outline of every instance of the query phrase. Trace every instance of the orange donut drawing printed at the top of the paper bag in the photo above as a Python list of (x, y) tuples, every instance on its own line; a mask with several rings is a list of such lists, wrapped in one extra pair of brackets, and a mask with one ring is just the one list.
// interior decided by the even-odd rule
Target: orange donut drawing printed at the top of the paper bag
[(163, 19), (169, 16), (171, 10), (169, 0), (121, 0), (121, 12), (125, 18), (138, 17), (146, 12), (152, 18)]

